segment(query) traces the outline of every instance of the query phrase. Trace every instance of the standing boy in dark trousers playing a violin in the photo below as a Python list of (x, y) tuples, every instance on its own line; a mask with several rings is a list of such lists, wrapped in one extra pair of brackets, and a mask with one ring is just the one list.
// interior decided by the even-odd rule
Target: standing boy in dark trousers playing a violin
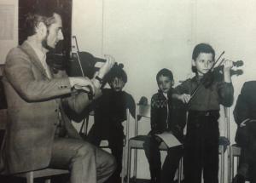
[[(214, 64), (215, 51), (207, 43), (195, 46), (192, 54), (192, 69), (195, 77), (177, 86), (173, 98), (189, 103), (187, 134), (184, 141), (184, 176), (186, 183), (218, 183), (218, 117), (219, 105), (231, 106), (234, 89), (230, 68), (233, 63), (224, 60), (224, 81), (212, 80), (204, 85), (205, 74)], [(200, 85), (200, 87), (198, 87)], [(191, 94), (195, 92), (191, 98)]]

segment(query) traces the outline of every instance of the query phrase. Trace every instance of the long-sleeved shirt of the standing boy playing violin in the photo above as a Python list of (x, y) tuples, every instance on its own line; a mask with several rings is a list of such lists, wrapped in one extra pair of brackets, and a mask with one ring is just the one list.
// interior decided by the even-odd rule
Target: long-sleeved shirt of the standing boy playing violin
[[(200, 84), (200, 77), (189, 78), (180, 85), (176, 90), (178, 94), (192, 94)], [(215, 111), (219, 110), (219, 104), (231, 106), (234, 97), (234, 88), (232, 83), (213, 82), (206, 89), (203, 85), (196, 92), (189, 105), (191, 111)]]

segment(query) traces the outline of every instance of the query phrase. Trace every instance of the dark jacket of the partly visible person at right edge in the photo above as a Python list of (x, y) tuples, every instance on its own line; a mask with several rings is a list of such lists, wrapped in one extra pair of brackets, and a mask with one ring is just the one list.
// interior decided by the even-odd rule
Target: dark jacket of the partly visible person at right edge
[[(256, 119), (256, 81), (250, 81), (243, 84), (241, 88), (241, 94), (239, 94), (236, 100), (236, 106), (234, 109), (234, 118), (237, 123), (236, 131), (236, 143), (240, 146), (248, 146), (252, 135), (250, 131), (255, 130), (256, 123), (247, 123), (245, 127), (239, 125), (249, 119)], [(255, 134), (255, 131), (253, 131)], [(254, 139), (254, 137), (253, 137)]]

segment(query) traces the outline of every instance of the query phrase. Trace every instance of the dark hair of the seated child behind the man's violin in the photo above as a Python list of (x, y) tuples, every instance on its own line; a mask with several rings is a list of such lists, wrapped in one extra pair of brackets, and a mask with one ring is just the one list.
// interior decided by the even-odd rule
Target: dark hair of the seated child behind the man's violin
[(123, 69), (124, 65), (114, 65), (113, 68), (108, 72), (108, 83), (112, 82), (115, 77), (122, 79), (124, 83), (127, 83), (127, 74)]

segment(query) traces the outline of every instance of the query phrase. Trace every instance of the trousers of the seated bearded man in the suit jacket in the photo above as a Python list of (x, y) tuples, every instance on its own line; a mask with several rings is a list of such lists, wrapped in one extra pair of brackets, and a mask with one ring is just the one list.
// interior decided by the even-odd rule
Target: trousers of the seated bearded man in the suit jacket
[(49, 167), (69, 169), (71, 183), (102, 183), (113, 174), (111, 154), (84, 140), (56, 138)]

